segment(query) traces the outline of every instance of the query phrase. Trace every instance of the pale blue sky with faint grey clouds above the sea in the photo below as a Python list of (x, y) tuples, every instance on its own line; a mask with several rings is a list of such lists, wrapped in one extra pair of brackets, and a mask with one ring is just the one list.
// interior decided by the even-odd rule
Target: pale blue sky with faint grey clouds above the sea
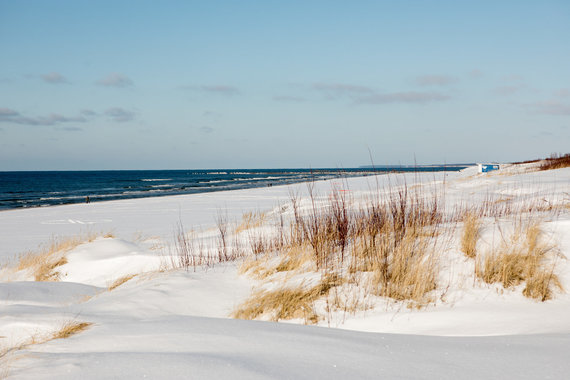
[(0, 0), (0, 170), (570, 147), (569, 1)]

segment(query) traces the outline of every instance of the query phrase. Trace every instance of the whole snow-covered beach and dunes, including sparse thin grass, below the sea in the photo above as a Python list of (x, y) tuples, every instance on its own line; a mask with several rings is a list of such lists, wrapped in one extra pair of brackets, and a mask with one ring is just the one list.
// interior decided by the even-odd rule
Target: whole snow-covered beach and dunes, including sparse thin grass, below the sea
[[(14, 379), (563, 378), (570, 370), (569, 189), (570, 168), (522, 164), (2, 211), (0, 368)], [(443, 218), (441, 229), (418, 240), (433, 248), (425, 260), (436, 260), (434, 284), (421, 297), (367, 293), (368, 272), (352, 281), (355, 270), (335, 261), (335, 276), (346, 278), (311, 299), (310, 316), (265, 310), (254, 320), (232, 318), (252, 295), (314, 286), (331, 274), (332, 264), (311, 259), (279, 271), (287, 253), (268, 244), (256, 252), (255, 239), (273, 239), (297, 212), (308, 221), (325, 215), (340, 204), (334, 199), (367, 210), (375, 197), (402, 199), (404, 191), (422, 205), (436, 199)], [(460, 208), (483, 210), (475, 258), (462, 251)], [(519, 221), (536, 226), (549, 247), (540, 265), (557, 283), (547, 283), (543, 299), (528, 296), (530, 277), (505, 285), (477, 269), (514, 241)], [(343, 243), (343, 263), (345, 246), (357, 246), (352, 239)], [(38, 254), (50, 241), (59, 262), (38, 281), (22, 254)], [(182, 248), (194, 261), (182, 263)], [(66, 325), (77, 330), (56, 336)]]

